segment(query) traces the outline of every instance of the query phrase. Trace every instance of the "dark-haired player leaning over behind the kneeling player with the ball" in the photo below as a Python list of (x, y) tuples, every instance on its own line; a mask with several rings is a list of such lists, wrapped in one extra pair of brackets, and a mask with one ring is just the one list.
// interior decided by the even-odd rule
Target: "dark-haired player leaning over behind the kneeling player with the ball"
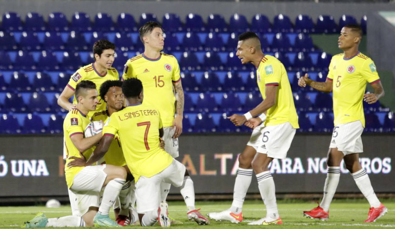
[[(74, 97), (73, 103), (69, 102), (71, 96), (75, 93), (75, 86), (82, 80), (90, 80), (96, 84), (96, 90), (99, 90), (103, 82), (107, 80), (119, 80), (117, 69), (111, 67), (115, 60), (115, 45), (108, 40), (98, 40), (93, 45), (94, 63), (86, 65), (78, 69), (70, 77), (70, 81), (64, 88), (62, 94), (58, 98), (58, 105), (64, 109), (71, 111), (75, 108), (77, 100)], [(98, 97), (98, 105), (94, 111), (88, 113), (88, 117), (92, 117), (95, 112), (104, 111), (105, 103), (101, 97)]]

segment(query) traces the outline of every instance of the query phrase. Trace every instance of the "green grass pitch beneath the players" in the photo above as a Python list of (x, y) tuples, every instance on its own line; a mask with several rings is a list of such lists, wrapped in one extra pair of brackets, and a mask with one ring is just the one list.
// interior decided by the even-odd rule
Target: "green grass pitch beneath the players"
[[(206, 215), (208, 212), (218, 212), (229, 208), (231, 201), (207, 201), (196, 202), (196, 207), (201, 208), (201, 213)], [(303, 202), (296, 200), (279, 200), (278, 209), (280, 216), (283, 219), (283, 225), (269, 225), (265, 227), (276, 229), (369, 229), (369, 228), (395, 228), (395, 201), (383, 200), (383, 204), (387, 206), (388, 213), (374, 223), (363, 223), (367, 218), (369, 211), (369, 204), (366, 200), (335, 200), (331, 204), (329, 221), (315, 221), (312, 219), (303, 218), (302, 211), (310, 210), (316, 207), (315, 202)], [(232, 224), (226, 221), (210, 222), (210, 225), (199, 226), (195, 222), (188, 221), (186, 218), (186, 209), (183, 202), (170, 201), (169, 214), (182, 221), (181, 225), (171, 225), (177, 228), (262, 228), (264, 226), (248, 226), (248, 221), (260, 219), (265, 216), (263, 210), (265, 206), (262, 201), (246, 201), (243, 208), (244, 221), (239, 224)], [(15, 228), (23, 224), (24, 221), (34, 217), (37, 212), (44, 212), (48, 218), (55, 218), (60, 216), (67, 216), (71, 214), (70, 206), (62, 206), (60, 208), (45, 208), (44, 206), (29, 206), (29, 207), (0, 207), (0, 228)], [(113, 215), (112, 215), (113, 217)], [(140, 226), (129, 226), (140, 227)], [(158, 227), (158, 226), (156, 226)], [(69, 227), (70, 228), (70, 227)]]

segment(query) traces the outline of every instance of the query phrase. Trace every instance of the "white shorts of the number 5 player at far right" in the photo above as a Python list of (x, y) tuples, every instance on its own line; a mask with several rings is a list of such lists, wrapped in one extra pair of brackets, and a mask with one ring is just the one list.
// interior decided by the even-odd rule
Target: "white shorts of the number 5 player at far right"
[(337, 150), (342, 151), (344, 155), (362, 153), (362, 132), (363, 126), (359, 120), (337, 125), (333, 128), (329, 148), (337, 148)]

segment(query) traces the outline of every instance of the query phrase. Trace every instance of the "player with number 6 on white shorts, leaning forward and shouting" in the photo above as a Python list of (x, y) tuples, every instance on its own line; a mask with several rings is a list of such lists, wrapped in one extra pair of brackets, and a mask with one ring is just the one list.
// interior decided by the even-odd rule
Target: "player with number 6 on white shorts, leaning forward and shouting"
[[(273, 158), (286, 158), (296, 129), (299, 128), (290, 82), (284, 65), (275, 57), (262, 52), (260, 40), (254, 32), (240, 34), (236, 55), (241, 63), (255, 65), (258, 87), (264, 100), (245, 115), (229, 117), (236, 126), (246, 123), (246, 126), (254, 130), (239, 156), (231, 208), (209, 213), (209, 217), (232, 223), (243, 220), (244, 198), (254, 171), (267, 214), (265, 218), (249, 225), (282, 224), (277, 210), (275, 184), (268, 166)], [(253, 118), (258, 115), (260, 116)]]

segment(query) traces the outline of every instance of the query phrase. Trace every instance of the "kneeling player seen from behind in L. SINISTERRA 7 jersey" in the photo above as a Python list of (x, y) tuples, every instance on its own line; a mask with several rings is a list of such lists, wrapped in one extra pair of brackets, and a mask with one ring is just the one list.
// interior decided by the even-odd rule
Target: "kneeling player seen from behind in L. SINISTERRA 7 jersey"
[(76, 166), (88, 166), (105, 155), (113, 138), (119, 135), (126, 164), (135, 178), (137, 212), (142, 226), (152, 226), (157, 221), (162, 227), (170, 226), (167, 203), (161, 202), (160, 184), (171, 183), (181, 187), (181, 195), (190, 206), (188, 218), (199, 224), (209, 221), (195, 209), (193, 182), (185, 166), (160, 148), (163, 124), (159, 111), (143, 102), (143, 85), (132, 78), (124, 81), (122, 92), (128, 107), (113, 113), (103, 127), (100, 141), (87, 162), (75, 161)]

